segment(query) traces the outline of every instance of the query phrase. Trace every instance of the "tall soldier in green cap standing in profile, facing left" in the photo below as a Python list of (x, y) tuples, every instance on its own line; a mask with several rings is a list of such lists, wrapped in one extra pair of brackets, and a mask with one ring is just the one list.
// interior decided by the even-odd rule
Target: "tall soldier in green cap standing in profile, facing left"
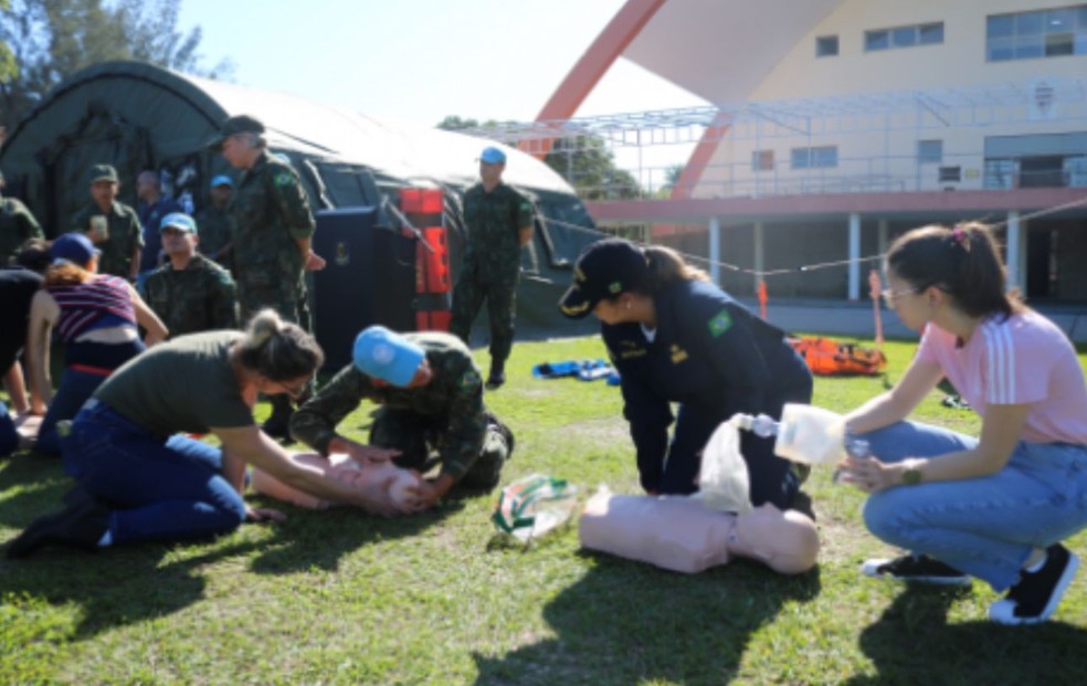
[[(310, 247), (316, 224), (298, 175), (268, 155), (264, 125), (247, 115), (226, 118), (208, 144), (242, 170), (228, 213), (234, 220), (234, 279), (242, 318), (271, 307), (292, 324), (306, 307), (306, 271), (325, 261)], [(304, 394), (308, 394), (307, 387)], [(272, 415), (262, 429), (288, 439), (291, 398), (272, 395)]]

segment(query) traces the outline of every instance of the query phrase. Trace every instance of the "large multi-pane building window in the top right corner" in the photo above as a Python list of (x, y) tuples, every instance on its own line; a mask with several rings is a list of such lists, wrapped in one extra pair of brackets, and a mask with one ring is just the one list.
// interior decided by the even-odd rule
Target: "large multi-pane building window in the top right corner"
[(1087, 4), (985, 19), (990, 62), (1065, 55), (1087, 55)]

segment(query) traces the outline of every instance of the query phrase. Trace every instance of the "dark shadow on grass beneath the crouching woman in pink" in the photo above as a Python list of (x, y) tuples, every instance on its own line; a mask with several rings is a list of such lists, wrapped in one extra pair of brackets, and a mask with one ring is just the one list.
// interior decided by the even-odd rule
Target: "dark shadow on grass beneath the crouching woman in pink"
[[(979, 583), (979, 582), (975, 582)], [(1060, 622), (1002, 626), (980, 618), (948, 624), (964, 589), (906, 587), (859, 638), (875, 676), (868, 684), (1085, 684), (1087, 631)]]

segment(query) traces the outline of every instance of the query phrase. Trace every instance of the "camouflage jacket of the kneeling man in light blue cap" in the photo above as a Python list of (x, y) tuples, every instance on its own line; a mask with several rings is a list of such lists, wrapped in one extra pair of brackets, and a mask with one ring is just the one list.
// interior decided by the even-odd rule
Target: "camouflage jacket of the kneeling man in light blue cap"
[(307, 445), (328, 454), (336, 425), (362, 400), (441, 418), (442, 473), (460, 479), (475, 463), (486, 437), (483, 380), (468, 348), (455, 336), (437, 331), (405, 334), (426, 351), (434, 377), (421, 388), (374, 386), (355, 365), (348, 365), (291, 419), (291, 433)]

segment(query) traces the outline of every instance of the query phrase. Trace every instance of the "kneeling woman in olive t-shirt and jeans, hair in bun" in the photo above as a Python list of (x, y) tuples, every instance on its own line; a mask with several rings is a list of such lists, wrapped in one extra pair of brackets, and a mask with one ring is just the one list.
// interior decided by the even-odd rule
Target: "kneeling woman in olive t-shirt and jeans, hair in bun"
[[(356, 489), (293, 462), (253, 419), (258, 393), (297, 395), (323, 359), (313, 337), (265, 309), (244, 334), (182, 336), (131, 360), (98, 388), (62, 441), (83, 497), (32, 524), (8, 557), (49, 543), (94, 549), (205, 538), (245, 519), (282, 518), (242, 500), (246, 464), (321, 499), (399, 514), (389, 484)], [(178, 432), (211, 432), (222, 448)]]

